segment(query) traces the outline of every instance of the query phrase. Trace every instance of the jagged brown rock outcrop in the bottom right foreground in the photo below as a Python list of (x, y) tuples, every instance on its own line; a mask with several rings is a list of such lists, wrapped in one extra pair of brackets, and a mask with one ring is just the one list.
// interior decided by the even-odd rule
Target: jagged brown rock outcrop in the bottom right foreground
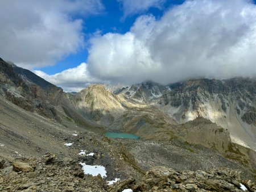
[[(130, 181), (130, 182), (128, 182)], [(146, 173), (141, 182), (131, 185), (132, 180), (120, 181), (110, 187), (122, 191), (255, 191), (255, 183), (241, 180), (237, 170), (217, 169), (204, 172), (185, 170), (178, 172), (166, 167), (155, 167)], [(126, 185), (120, 185), (126, 183)], [(116, 187), (116, 188), (115, 188)], [(118, 188), (119, 187), (119, 188)]]

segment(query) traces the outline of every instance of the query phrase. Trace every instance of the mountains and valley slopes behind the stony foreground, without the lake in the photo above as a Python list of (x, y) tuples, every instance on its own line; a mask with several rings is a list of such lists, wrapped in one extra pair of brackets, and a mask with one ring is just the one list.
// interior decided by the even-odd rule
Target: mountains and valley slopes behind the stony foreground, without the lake
[[(78, 156), (70, 162), (101, 163), (110, 179), (141, 180), (153, 166), (167, 166), (229, 167), (255, 180), (256, 78), (201, 78), (168, 85), (145, 81), (124, 87), (94, 84), (65, 93), (0, 59), (0, 82), (0, 157), (6, 169), (19, 156), (39, 158), (47, 151), (64, 162), (83, 146), (99, 157)], [(109, 139), (104, 136), (107, 131), (141, 139)], [(79, 139), (72, 136), (77, 132)], [(64, 146), (66, 141), (73, 143), (74, 152)]]

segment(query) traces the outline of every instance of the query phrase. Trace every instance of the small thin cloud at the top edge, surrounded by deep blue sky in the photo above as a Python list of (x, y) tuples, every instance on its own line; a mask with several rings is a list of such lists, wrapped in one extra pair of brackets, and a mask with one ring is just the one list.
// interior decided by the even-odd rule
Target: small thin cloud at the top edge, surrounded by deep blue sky
[(117, 0), (122, 3), (123, 16), (134, 15), (147, 11), (150, 7), (161, 9), (166, 0)]

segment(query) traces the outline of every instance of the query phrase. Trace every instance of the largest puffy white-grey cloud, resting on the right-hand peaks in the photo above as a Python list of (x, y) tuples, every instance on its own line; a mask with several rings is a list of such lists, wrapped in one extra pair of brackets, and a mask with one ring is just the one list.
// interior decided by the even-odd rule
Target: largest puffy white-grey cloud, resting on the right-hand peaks
[(88, 70), (120, 83), (256, 76), (256, 6), (247, 0), (194, 0), (159, 20), (137, 19), (126, 34), (92, 39)]

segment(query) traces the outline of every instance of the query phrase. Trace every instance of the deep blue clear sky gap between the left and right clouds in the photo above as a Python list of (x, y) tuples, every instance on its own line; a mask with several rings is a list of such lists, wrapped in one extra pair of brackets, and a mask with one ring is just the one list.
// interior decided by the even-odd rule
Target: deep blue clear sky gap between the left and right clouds
[(82, 32), (85, 35), (85, 45), (84, 48), (80, 48), (77, 53), (64, 56), (63, 59), (56, 61), (55, 65), (44, 66), (42, 68), (35, 68), (35, 70), (42, 70), (47, 74), (55, 74), (62, 72), (65, 69), (74, 68), (75, 66), (81, 64), (81, 62), (87, 62), (88, 57), (88, 46), (90, 36), (96, 32), (100, 31), (101, 34), (106, 34), (108, 32), (117, 32), (120, 34), (125, 34), (125, 32), (130, 30), (133, 23), (141, 14), (152, 14), (156, 18), (160, 18), (163, 12), (170, 9), (172, 6), (180, 5), (184, 0), (167, 0), (163, 3), (163, 6), (158, 9), (156, 7), (150, 7), (148, 10), (139, 12), (138, 14), (128, 15), (123, 18), (122, 3), (116, 0), (104, 0), (102, 4), (105, 10), (97, 15), (90, 15), (81, 17), (81, 15), (72, 15), (74, 19), (82, 18), (84, 20)]

